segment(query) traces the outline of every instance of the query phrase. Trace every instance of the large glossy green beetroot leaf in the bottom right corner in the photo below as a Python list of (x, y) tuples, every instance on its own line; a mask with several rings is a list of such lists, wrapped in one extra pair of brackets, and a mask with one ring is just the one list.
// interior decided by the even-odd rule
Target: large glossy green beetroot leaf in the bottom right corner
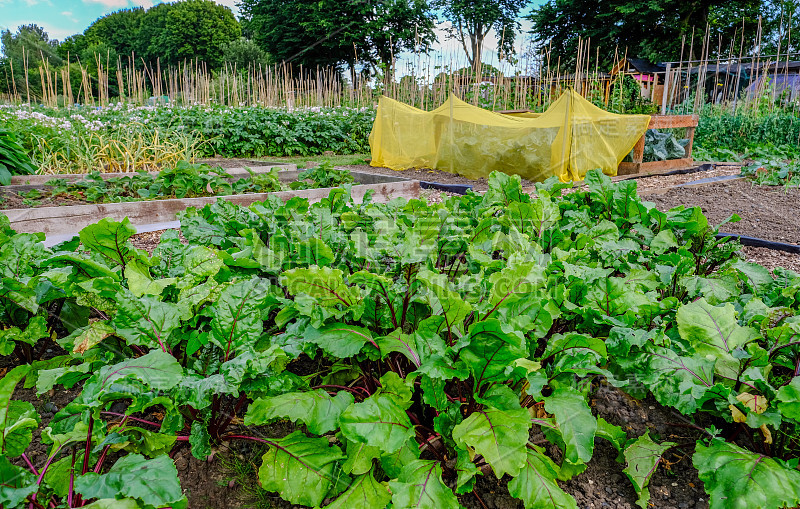
[(800, 471), (715, 439), (692, 456), (711, 509), (773, 509), (800, 504)]

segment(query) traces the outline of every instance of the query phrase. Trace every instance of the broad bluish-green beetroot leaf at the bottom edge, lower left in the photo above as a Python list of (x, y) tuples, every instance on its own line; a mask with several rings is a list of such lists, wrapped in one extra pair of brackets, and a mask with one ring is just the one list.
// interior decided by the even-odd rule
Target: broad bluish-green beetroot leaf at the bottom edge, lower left
[(122, 495), (153, 507), (186, 507), (178, 471), (166, 455), (149, 460), (140, 454), (128, 454), (117, 460), (108, 473), (77, 476), (75, 491), (84, 499)]

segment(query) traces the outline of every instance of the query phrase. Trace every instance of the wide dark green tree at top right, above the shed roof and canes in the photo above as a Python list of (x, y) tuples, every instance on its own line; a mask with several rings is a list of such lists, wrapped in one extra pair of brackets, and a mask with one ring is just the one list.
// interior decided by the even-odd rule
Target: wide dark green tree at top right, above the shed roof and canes
[(651, 61), (677, 60), (685, 40), (684, 57), (694, 35), (694, 57), (708, 26), (716, 53), (718, 41), (727, 54), (730, 41), (744, 30), (745, 44), (752, 44), (762, 0), (549, 0), (529, 16), (531, 33), (539, 48), (550, 50), (551, 62), (572, 66), (579, 38), (590, 39), (592, 54), (599, 50), (600, 65), (620, 57)]

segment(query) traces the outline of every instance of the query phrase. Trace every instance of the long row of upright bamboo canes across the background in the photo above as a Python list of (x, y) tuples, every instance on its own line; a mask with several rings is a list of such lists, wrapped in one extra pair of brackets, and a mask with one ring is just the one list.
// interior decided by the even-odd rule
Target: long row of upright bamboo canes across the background
[[(643, 86), (643, 94), (648, 95), (662, 113), (696, 111), (705, 102), (735, 108), (756, 107), (759, 101), (763, 104), (765, 97), (769, 99), (769, 107), (776, 104), (780, 107), (779, 99), (783, 99), (783, 106), (798, 107), (797, 92), (781, 97), (779, 87), (773, 82), (776, 76), (783, 75), (783, 80), (787, 81), (790, 74), (798, 73), (792, 58), (800, 58), (800, 53), (786, 49), (792, 47), (790, 29), (781, 33), (777, 53), (769, 55), (762, 55), (760, 28), (754, 42), (745, 41), (742, 31), (738, 38), (723, 44), (721, 37), (713, 40), (708, 29), (699, 47), (695, 47), (694, 41), (694, 34), (688, 43), (684, 37), (680, 60), (668, 63), (665, 73)], [(211, 72), (202, 62), (186, 61), (164, 68), (160, 62), (154, 65), (141, 59), (137, 62), (135, 55), (119, 58), (116, 65), (111, 65), (107, 55), (105, 58), (96, 55), (93, 72), (84, 63), (53, 68), (45, 60), (38, 67), (41, 87), (37, 92), (28, 81), (28, 59), (25, 58), (25, 89), (19, 90), (11, 80), (13, 90), (4, 99), (50, 107), (76, 103), (106, 106), (120, 101), (140, 105), (169, 102), (292, 109), (372, 107), (383, 94), (431, 109), (453, 93), (489, 109), (540, 111), (567, 87), (595, 99), (596, 103), (602, 101), (608, 105), (614, 99), (612, 94), (615, 91), (621, 94), (623, 90), (614, 84), (625, 75), (638, 74), (629, 68), (627, 57), (626, 52), (618, 50), (613, 58), (615, 65), (610, 70), (601, 70), (599, 49), (593, 48), (592, 41), (586, 39), (579, 40), (576, 64), (568, 72), (562, 70), (560, 60), (553, 61), (549, 48), (544, 48), (527, 52), (521, 65), (502, 60), (498, 55), (490, 56), (487, 60), (492, 64), (491, 75), (485, 73), (480, 64), (474, 72), (464, 72), (467, 66), (460, 62), (458, 55), (423, 58), (416, 54), (402, 62), (402, 68), (394, 61), (392, 68), (385, 70), (382, 76), (364, 79), (352, 71), (345, 78), (336, 69), (293, 68), (287, 64), (250, 65), (247, 69), (226, 64), (220, 71)], [(74, 66), (80, 73), (77, 90), (70, 79)], [(744, 75), (742, 70), (745, 70)], [(709, 93), (707, 86), (712, 79)]]

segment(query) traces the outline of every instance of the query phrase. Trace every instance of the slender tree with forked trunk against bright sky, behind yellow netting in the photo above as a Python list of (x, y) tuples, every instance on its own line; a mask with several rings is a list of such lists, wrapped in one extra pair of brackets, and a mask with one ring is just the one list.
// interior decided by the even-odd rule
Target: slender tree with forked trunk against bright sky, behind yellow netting
[(450, 37), (461, 43), (473, 69), (480, 64), (484, 40), (493, 30), (500, 55), (514, 53), (518, 18), (527, 4), (527, 0), (437, 0), (437, 6), (451, 24)]

